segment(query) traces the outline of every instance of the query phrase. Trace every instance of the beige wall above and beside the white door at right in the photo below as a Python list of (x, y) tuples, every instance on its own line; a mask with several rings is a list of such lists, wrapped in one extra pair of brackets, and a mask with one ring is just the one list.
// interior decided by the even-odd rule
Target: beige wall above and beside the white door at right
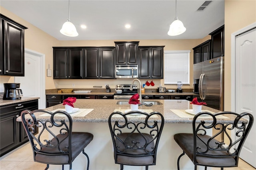
[(231, 34), (256, 22), (256, 0), (225, 0), (224, 109), (231, 110)]

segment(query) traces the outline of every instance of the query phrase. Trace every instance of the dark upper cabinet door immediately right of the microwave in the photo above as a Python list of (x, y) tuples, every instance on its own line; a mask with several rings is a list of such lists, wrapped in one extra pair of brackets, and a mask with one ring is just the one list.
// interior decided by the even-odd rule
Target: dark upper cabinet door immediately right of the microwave
[(139, 48), (139, 78), (150, 78), (150, 47)]

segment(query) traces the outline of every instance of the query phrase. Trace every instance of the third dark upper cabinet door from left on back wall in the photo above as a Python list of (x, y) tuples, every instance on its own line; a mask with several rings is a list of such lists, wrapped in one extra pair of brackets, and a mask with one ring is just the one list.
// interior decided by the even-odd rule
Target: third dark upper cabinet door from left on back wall
[(86, 48), (84, 49), (85, 60), (85, 76), (84, 78), (99, 78), (99, 49)]

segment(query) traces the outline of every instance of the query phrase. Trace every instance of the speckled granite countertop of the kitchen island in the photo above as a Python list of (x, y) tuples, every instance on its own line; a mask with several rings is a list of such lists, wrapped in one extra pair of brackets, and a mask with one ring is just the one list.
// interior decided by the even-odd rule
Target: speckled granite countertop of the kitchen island
[[(130, 105), (118, 105), (118, 101), (128, 101), (128, 100), (86, 100), (86, 99), (78, 99), (74, 103), (75, 108), (80, 109), (93, 109), (85, 115), (84, 117), (74, 117), (72, 114), (73, 122), (108, 122), (109, 115), (115, 109), (130, 109)], [(158, 111), (164, 115), (165, 123), (192, 123), (193, 118), (181, 118), (176, 115), (171, 109), (192, 109), (190, 101), (187, 100), (143, 100), (143, 102), (147, 101), (158, 101), (161, 102), (162, 105), (153, 105), (153, 106), (139, 106), (139, 109), (152, 109), (153, 111)], [(56, 106), (48, 107), (46, 110), (53, 111), (55, 109), (63, 108), (62, 104), (58, 104)], [(214, 113), (218, 112), (219, 110), (212, 109), (210, 107), (202, 106), (202, 110), (209, 110)], [(39, 113), (40, 114), (40, 113)], [(49, 117), (39, 116), (36, 117), (42, 121), (48, 120)], [(61, 118), (60, 118), (61, 119)], [(135, 118), (134, 118), (135, 119)], [(138, 119), (138, 118), (136, 118)], [(207, 122), (211, 122), (212, 119), (204, 119)], [(221, 121), (228, 123), (232, 119), (222, 119)], [(20, 121), (20, 117), (17, 119)]]

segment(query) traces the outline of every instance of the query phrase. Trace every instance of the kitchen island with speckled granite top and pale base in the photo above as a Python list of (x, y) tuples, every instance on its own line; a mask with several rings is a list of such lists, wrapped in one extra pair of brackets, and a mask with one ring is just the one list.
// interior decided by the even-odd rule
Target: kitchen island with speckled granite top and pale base
[[(94, 135), (92, 142), (86, 147), (85, 152), (90, 158), (90, 170), (118, 170), (120, 166), (114, 163), (112, 139), (108, 127), (108, 116), (115, 109), (130, 109), (130, 105), (118, 105), (120, 100), (84, 100), (78, 99), (74, 103), (74, 107), (80, 109), (91, 109), (85, 116), (72, 116), (73, 131), (90, 132)], [(127, 100), (122, 100), (127, 101)], [(147, 102), (148, 100), (143, 100)], [(152, 100), (150, 100), (152, 101)], [(182, 153), (182, 150), (173, 139), (176, 133), (192, 133), (192, 117), (181, 118), (176, 115), (174, 110), (192, 109), (190, 102), (187, 100), (154, 100), (162, 103), (161, 105), (153, 106), (139, 106), (139, 109), (158, 111), (164, 115), (165, 124), (162, 131), (162, 136), (158, 145), (156, 166), (150, 166), (150, 170), (176, 170), (177, 158)], [(58, 104), (56, 106), (46, 108), (49, 111), (60, 109), (64, 106)], [(171, 111), (172, 109), (172, 111)], [(203, 106), (203, 110), (209, 110), (214, 113), (218, 112), (216, 109)], [(43, 113), (42, 113), (43, 114)], [(191, 116), (191, 115), (188, 115)], [(36, 115), (42, 121), (48, 120), (49, 117)], [(61, 117), (60, 117), (61, 119)], [(134, 118), (136, 119), (136, 118)], [(138, 119), (138, 118), (137, 118)], [(205, 119), (211, 121), (211, 119)], [(228, 122), (230, 119), (223, 119)], [(20, 121), (18, 117), (17, 121)], [(194, 169), (192, 162), (187, 156), (180, 160), (181, 169)], [(57, 169), (57, 165), (50, 165), (50, 169)], [(61, 166), (59, 166), (61, 167)], [(65, 166), (68, 167), (68, 166)], [(81, 170), (86, 167), (86, 158), (80, 154), (72, 164), (73, 169)], [(204, 169), (199, 167), (198, 169)], [(143, 170), (142, 166), (124, 166), (124, 170)], [(209, 168), (210, 169), (210, 168)]]

